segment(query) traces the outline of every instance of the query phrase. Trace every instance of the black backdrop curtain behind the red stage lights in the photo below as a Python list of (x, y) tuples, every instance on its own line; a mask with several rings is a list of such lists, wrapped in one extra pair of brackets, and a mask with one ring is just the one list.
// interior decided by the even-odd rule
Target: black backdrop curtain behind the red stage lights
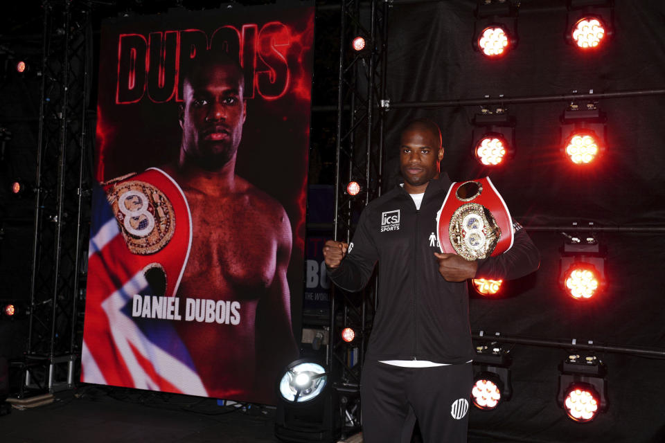
[[(665, 3), (617, 0), (614, 37), (595, 53), (565, 43), (565, 1), (522, 1), (517, 48), (501, 60), (472, 49), (475, 1), (396, 4), (390, 10), (388, 96), (392, 102), (559, 95), (665, 88)], [(513, 217), (529, 225), (594, 221), (597, 226), (665, 226), (664, 96), (599, 100), (608, 115), (605, 156), (580, 172), (560, 151), (565, 102), (509, 105), (517, 119), (515, 158), (491, 172)], [(497, 99), (497, 103), (499, 100)], [(440, 125), (443, 169), (453, 180), (483, 172), (472, 159), (472, 118), (480, 107), (392, 109), (387, 171), (397, 174), (399, 130), (411, 118)], [(393, 183), (391, 179), (387, 180)], [(473, 298), (472, 329), (551, 339), (665, 347), (665, 235), (601, 233), (608, 287), (576, 302), (558, 287), (556, 232), (531, 233), (542, 263), (497, 300)], [(665, 441), (665, 361), (599, 354), (608, 365), (607, 413), (589, 424), (556, 404), (565, 350), (513, 348), (513, 399), (472, 410), (472, 441)]]

